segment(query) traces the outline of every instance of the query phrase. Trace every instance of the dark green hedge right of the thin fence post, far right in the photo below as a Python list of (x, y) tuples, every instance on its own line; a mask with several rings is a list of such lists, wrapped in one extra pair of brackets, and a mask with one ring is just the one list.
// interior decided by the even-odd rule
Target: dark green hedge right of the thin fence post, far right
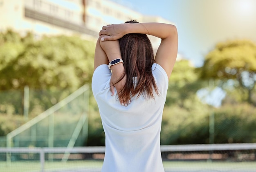
[(215, 143), (256, 142), (256, 108), (226, 104), (215, 110)]

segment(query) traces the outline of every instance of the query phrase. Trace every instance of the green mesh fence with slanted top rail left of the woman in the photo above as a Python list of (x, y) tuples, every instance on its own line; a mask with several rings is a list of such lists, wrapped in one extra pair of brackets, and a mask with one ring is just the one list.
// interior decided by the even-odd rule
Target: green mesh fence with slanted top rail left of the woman
[[(27, 98), (18, 91), (0, 93), (4, 114), (0, 132), (7, 132), (7, 137), (0, 137), (0, 147), (83, 146), (88, 136), (89, 92), (88, 86), (82, 86), (71, 95), (65, 90), (31, 90)], [(13, 95), (13, 99), (9, 95)], [(29, 102), (27, 119), (20, 115), (26, 101)], [(13, 115), (16, 120), (8, 120)]]

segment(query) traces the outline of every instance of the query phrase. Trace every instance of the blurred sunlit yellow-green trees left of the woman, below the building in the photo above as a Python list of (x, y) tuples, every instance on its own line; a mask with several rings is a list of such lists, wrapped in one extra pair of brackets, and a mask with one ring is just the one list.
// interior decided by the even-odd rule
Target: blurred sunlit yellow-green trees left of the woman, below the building
[(9, 30), (0, 34), (0, 90), (75, 90), (91, 81), (94, 43), (79, 36), (34, 40)]

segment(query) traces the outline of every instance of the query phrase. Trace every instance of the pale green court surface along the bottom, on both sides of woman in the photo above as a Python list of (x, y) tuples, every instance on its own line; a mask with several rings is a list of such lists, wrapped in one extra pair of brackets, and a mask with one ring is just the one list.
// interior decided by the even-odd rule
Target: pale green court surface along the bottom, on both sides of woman
[[(45, 163), (44, 172), (100, 172), (103, 161), (68, 161)], [(34, 165), (33, 165), (34, 164)], [(256, 172), (256, 161), (198, 162), (163, 161), (165, 172)], [(0, 172), (42, 172), (40, 163), (12, 162), (9, 167), (0, 163)]]

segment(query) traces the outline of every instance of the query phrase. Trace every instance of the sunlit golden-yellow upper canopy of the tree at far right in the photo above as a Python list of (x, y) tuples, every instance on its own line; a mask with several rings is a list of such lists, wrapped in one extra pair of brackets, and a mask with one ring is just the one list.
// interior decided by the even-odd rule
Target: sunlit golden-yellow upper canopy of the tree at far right
[(227, 41), (208, 53), (202, 77), (236, 79), (243, 71), (256, 72), (256, 45), (249, 40)]

